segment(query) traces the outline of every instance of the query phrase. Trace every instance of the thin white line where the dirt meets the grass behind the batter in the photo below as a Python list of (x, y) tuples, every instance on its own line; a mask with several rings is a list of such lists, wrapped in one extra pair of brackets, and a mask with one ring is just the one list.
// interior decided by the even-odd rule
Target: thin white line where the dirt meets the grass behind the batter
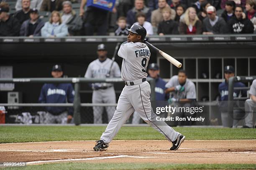
[[(131, 140), (113, 140), (113, 141), (131, 141)], [(166, 141), (166, 140), (134, 140), (134, 141)], [(185, 141), (243, 141), (243, 140), (185, 140)], [(248, 140), (246, 140), (248, 141)], [(256, 141), (256, 140), (253, 140)], [(95, 140), (60, 140), (60, 141), (44, 141), (44, 142), (16, 142), (16, 143), (0, 143), (5, 144), (23, 144), (23, 143), (47, 143), (47, 142), (95, 142)]]

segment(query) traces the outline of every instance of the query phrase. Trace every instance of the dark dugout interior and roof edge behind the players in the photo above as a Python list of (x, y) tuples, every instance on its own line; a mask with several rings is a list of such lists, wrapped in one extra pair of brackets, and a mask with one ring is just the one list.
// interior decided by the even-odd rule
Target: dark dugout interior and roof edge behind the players
[[(67, 77), (83, 77), (88, 64), (97, 58), (99, 43), (105, 43), (108, 57), (113, 56), (117, 42), (125, 37), (83, 36), (67, 38), (0, 37), (0, 66), (12, 66), (13, 78), (51, 77), (51, 67), (61, 64)], [(156, 47), (182, 62), (189, 79), (196, 84), (197, 100), (215, 100), (223, 68), (233, 65), (236, 76), (256, 75), (256, 35), (150, 36)], [(121, 58), (116, 57), (121, 65)], [(160, 65), (161, 77), (168, 80), (178, 69), (151, 50), (150, 63)], [(24, 103), (36, 103), (42, 84), (15, 84)], [(117, 98), (124, 84), (116, 84)], [(91, 89), (81, 86), (82, 102), (91, 102)], [(7, 103), (7, 91), (0, 91), (0, 103)]]

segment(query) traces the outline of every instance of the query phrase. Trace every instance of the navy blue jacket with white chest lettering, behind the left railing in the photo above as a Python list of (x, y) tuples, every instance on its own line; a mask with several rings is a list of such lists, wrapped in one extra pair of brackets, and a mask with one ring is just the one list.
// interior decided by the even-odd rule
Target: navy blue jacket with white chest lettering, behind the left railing
[[(41, 89), (39, 103), (73, 103), (74, 89), (72, 84), (44, 84)], [(46, 107), (51, 114), (58, 115), (68, 110), (69, 115), (73, 115), (73, 108), (66, 107)]]

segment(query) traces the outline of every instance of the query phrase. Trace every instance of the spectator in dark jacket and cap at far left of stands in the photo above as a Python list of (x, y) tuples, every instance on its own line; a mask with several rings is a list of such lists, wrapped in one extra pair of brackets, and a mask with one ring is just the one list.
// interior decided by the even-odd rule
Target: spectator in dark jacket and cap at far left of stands
[(0, 3), (0, 36), (19, 36), (20, 22), (9, 15), (9, 5)]

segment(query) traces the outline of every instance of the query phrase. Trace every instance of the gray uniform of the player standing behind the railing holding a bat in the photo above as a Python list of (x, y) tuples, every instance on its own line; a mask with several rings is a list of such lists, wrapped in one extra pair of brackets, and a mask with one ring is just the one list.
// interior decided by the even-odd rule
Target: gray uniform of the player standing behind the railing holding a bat
[[(100, 62), (99, 59), (92, 61), (87, 71), (84, 75), (85, 78), (106, 78), (106, 74), (108, 74), (110, 70), (112, 60), (107, 58), (105, 61)], [(120, 77), (120, 68), (118, 63), (114, 61), (112, 69), (110, 71), (110, 77)], [(95, 83), (92, 86), (99, 87), (98, 90), (93, 90), (92, 92), (92, 103), (116, 103), (115, 100), (115, 90), (114, 86), (111, 83)], [(104, 88), (105, 87), (105, 88)], [(104, 88), (104, 89), (101, 89)], [(108, 114), (108, 121), (113, 117), (115, 112), (115, 107), (105, 107)], [(103, 107), (93, 107), (93, 119), (94, 123), (101, 124), (102, 123), (102, 113)]]

